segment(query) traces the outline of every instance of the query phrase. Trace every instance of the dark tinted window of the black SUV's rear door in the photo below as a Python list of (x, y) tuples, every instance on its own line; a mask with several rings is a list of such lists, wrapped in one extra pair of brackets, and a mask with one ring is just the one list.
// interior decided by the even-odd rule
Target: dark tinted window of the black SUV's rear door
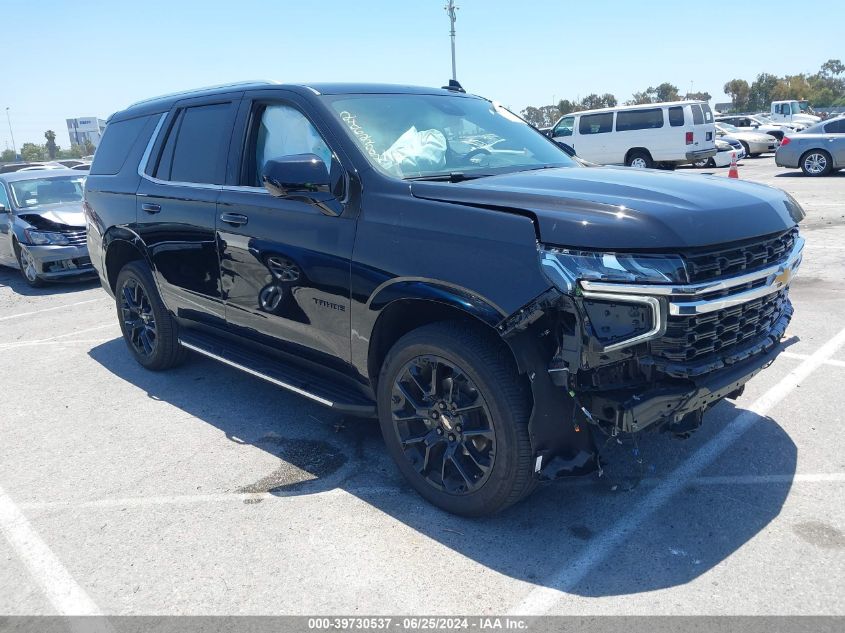
[(170, 127), (155, 177), (174, 182), (222, 183), (230, 103), (185, 108)]

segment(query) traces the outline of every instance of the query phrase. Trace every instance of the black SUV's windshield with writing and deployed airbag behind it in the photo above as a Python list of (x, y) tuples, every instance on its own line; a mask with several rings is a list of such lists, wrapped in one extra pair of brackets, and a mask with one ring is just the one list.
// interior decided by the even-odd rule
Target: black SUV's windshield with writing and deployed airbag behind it
[(515, 114), (483, 99), (344, 95), (331, 106), (369, 161), (398, 178), (479, 177), (576, 165)]

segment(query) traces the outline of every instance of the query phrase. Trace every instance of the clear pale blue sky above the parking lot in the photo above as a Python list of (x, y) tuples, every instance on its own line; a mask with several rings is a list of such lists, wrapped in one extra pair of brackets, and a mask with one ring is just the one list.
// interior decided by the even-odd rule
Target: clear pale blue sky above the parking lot
[[(18, 150), (69, 146), (66, 118), (250, 79), (442, 86), (445, 0), (0, 0), (0, 115)], [(845, 2), (457, 0), (458, 80), (519, 111), (664, 81), (714, 102), (758, 73), (845, 57)], [(818, 19), (823, 15), (823, 19)], [(9, 47), (14, 46), (14, 50)], [(0, 120), (0, 149), (11, 147)]]

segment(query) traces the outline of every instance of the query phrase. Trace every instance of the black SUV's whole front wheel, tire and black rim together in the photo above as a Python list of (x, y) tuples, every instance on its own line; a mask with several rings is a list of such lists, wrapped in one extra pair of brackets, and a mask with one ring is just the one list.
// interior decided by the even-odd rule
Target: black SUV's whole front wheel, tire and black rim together
[(523, 381), (480, 326), (435, 323), (403, 336), (382, 365), (378, 411), (399, 470), (447, 512), (493, 514), (536, 486)]

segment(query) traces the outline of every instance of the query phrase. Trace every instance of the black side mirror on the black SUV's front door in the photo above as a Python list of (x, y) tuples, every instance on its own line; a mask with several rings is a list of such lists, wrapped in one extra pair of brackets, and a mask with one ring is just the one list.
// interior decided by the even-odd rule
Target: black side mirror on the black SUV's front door
[(332, 191), (332, 178), (326, 163), (316, 154), (294, 154), (268, 160), (261, 180), (264, 188), (276, 198), (315, 204), (326, 215), (343, 212)]

